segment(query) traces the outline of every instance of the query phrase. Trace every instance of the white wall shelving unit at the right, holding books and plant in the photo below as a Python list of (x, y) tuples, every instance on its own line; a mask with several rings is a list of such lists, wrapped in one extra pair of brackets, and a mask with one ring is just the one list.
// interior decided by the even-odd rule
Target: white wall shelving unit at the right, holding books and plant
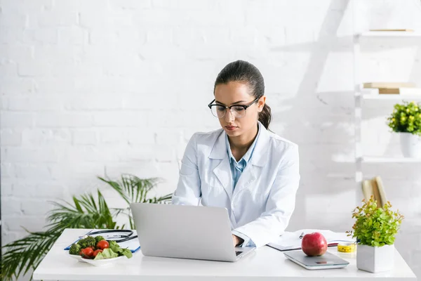
[[(363, 198), (361, 183), (363, 181), (363, 163), (421, 163), (421, 159), (411, 159), (405, 157), (373, 157), (370, 155), (365, 155), (363, 152), (363, 145), (361, 143), (361, 123), (363, 117), (363, 110), (361, 103), (363, 100), (396, 100), (399, 102), (401, 100), (421, 100), (420, 95), (411, 94), (411, 95), (400, 95), (400, 94), (373, 94), (367, 93), (362, 88), (363, 81), (359, 77), (360, 70), (360, 61), (361, 61), (361, 44), (363, 44), (363, 39), (370, 39), (370, 43), (373, 44), (373, 39), (388, 39), (388, 40), (405, 40), (408, 44), (421, 44), (421, 33), (420, 32), (400, 32), (400, 31), (373, 31), (373, 32), (363, 32), (360, 34), (354, 35), (354, 100), (355, 100), (355, 110), (354, 110), (354, 124), (355, 124), (355, 182), (356, 182), (356, 202), (361, 202)], [(416, 39), (415, 41), (413, 39)], [(421, 45), (420, 45), (421, 46)]]

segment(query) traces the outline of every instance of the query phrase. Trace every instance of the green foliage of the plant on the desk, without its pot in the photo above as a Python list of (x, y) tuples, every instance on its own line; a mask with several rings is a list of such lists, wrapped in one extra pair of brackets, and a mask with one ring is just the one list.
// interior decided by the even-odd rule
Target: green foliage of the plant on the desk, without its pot
[(404, 217), (399, 214), (399, 210), (392, 211), (391, 207), (389, 201), (383, 207), (377, 206), (373, 196), (368, 201), (363, 200), (363, 206), (353, 211), (352, 218), (356, 221), (353, 230), (347, 232), (348, 236), (356, 238), (359, 244), (373, 247), (394, 244)]

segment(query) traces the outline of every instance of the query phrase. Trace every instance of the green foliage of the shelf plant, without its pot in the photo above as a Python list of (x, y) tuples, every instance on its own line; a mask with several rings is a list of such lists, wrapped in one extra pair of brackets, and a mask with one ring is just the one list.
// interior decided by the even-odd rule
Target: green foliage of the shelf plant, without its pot
[(421, 104), (404, 101), (396, 103), (387, 125), (398, 133), (413, 133), (421, 136)]

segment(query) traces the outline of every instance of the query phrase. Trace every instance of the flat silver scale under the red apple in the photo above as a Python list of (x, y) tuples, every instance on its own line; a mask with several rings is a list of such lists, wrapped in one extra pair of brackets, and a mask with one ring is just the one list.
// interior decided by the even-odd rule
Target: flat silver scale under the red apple
[(310, 270), (345, 268), (349, 264), (345, 259), (341, 259), (339, 256), (335, 256), (328, 251), (322, 256), (307, 256), (301, 249), (285, 251), (283, 254), (294, 263)]

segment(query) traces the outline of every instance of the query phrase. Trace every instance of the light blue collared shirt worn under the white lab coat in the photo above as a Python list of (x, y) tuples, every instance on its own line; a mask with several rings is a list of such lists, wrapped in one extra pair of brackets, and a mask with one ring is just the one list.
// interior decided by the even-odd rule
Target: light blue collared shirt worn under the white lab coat
[[(258, 130), (258, 136), (256, 136), (253, 143), (248, 148), (247, 152), (243, 157), (241, 157), (240, 161), (237, 162), (234, 155), (232, 155), (231, 147), (229, 146), (228, 136), (225, 135), (225, 141), (227, 143), (227, 153), (229, 158), (229, 166), (231, 167), (231, 174), (232, 174), (232, 191), (234, 192), (236, 183), (239, 181), (241, 174), (243, 173), (244, 169), (246, 168), (248, 162), (250, 162), (251, 157), (253, 156), (253, 151), (255, 149), (256, 143), (258, 142), (258, 138), (260, 135), (260, 130)], [(232, 231), (232, 234), (240, 237), (244, 240), (242, 246), (243, 247), (255, 247), (255, 243), (243, 233), (239, 233), (236, 230)]]

